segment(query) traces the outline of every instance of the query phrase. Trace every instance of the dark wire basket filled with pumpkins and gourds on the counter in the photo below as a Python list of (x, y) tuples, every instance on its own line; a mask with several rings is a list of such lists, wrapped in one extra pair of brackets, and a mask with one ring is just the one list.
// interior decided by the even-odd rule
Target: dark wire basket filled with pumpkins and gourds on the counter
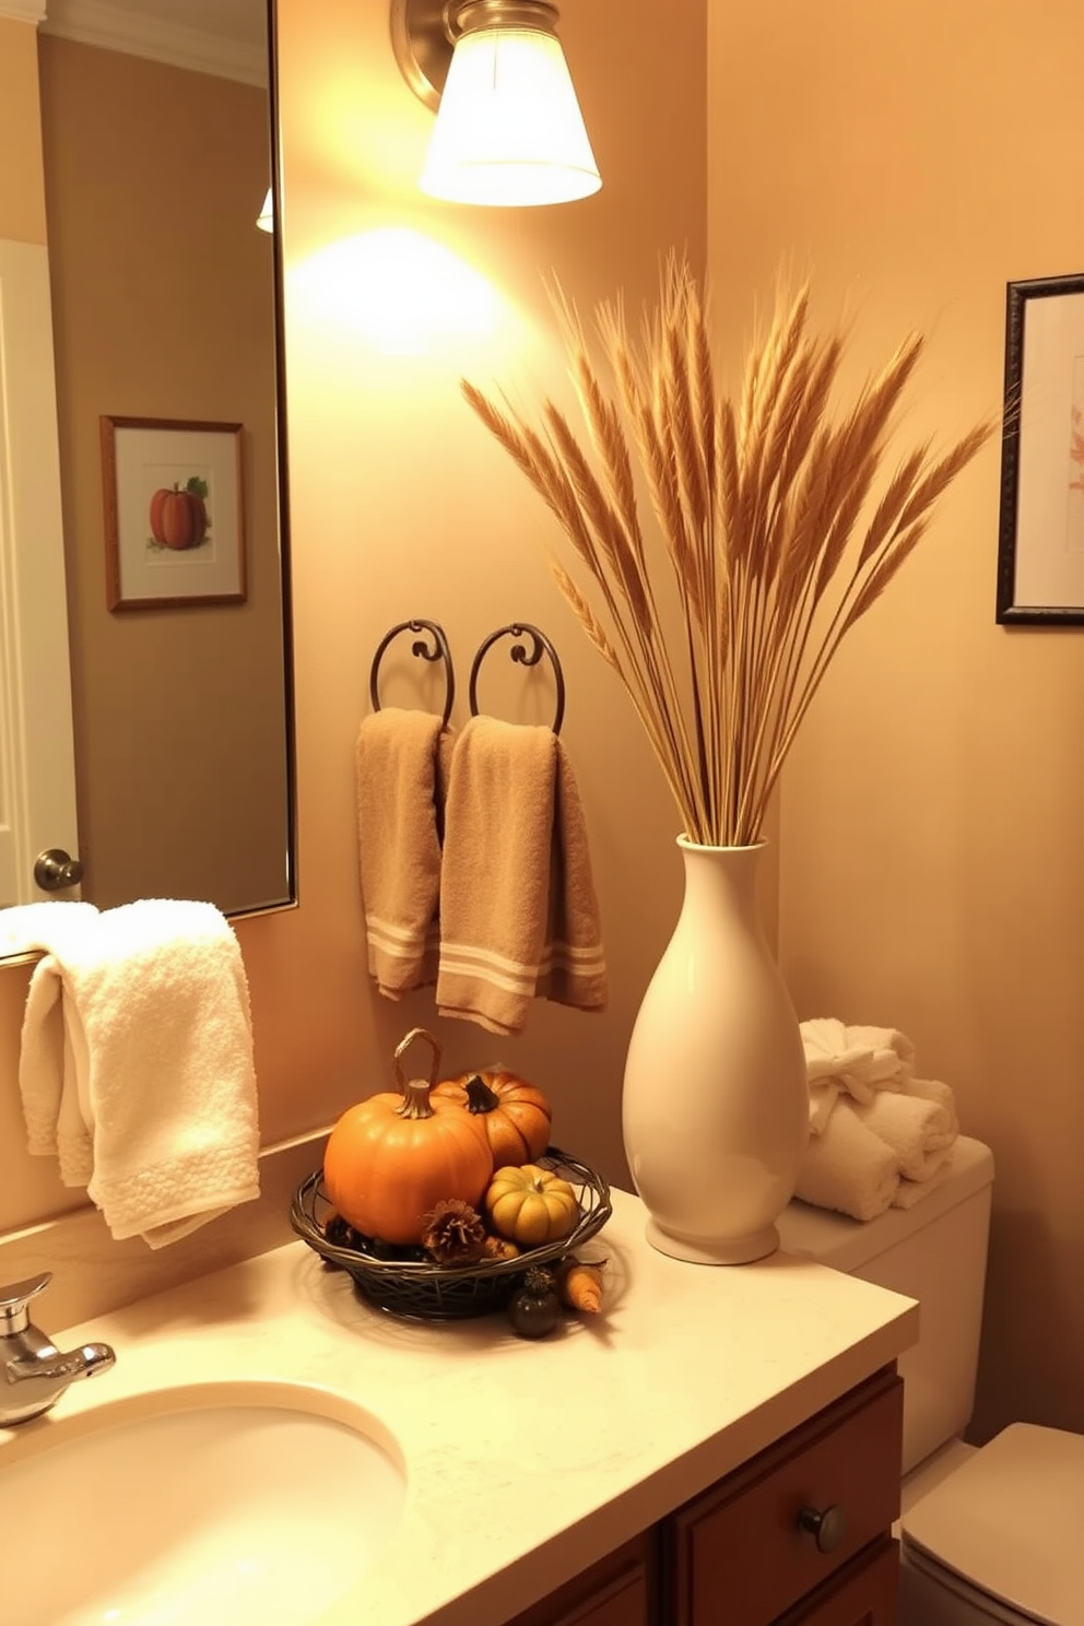
[[(427, 1080), (406, 1078), (424, 1039)], [(299, 1187), (291, 1223), (362, 1298), (400, 1315), (450, 1320), (505, 1309), (541, 1337), (566, 1309), (595, 1314), (603, 1262), (575, 1252), (611, 1213), (609, 1187), (549, 1145), (553, 1111), (507, 1070), (439, 1081), (440, 1046), (413, 1028), (395, 1049), (398, 1089), (348, 1107), (323, 1169)]]

